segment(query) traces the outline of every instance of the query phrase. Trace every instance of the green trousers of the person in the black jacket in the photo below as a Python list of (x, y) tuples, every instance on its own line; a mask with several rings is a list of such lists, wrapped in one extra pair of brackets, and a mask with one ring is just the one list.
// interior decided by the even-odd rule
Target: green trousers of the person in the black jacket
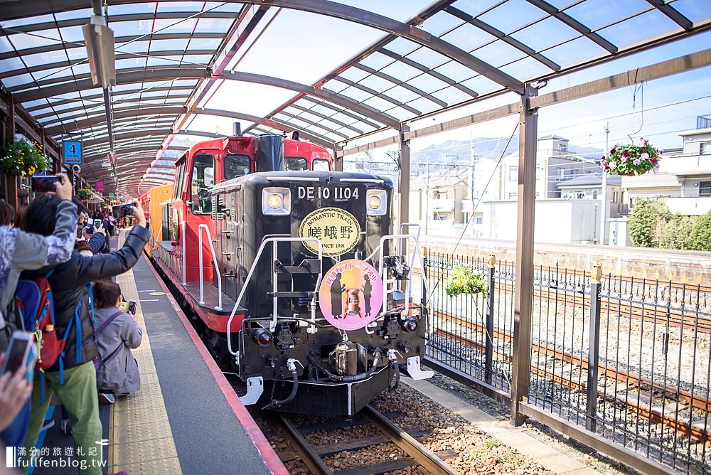
[[(59, 384), (58, 372), (45, 373), (45, 401), (42, 398), (41, 378), (35, 378), (32, 389), (32, 416), (25, 438), (25, 453), (37, 445), (53, 393), (57, 393), (69, 413), (74, 436), (75, 459), (82, 475), (102, 474), (102, 431), (99, 419), (99, 400), (96, 390), (94, 363), (84, 363), (64, 370), (64, 384)], [(99, 442), (99, 444), (97, 444)], [(23, 469), (23, 474), (26, 473)]]

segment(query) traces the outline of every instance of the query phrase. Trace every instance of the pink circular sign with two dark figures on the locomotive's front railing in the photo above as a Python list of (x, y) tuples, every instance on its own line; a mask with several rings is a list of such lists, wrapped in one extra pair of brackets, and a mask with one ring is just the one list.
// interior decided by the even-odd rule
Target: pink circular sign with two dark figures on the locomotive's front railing
[(383, 307), (383, 281), (368, 262), (349, 259), (324, 274), (319, 306), (328, 323), (341, 330), (358, 330)]

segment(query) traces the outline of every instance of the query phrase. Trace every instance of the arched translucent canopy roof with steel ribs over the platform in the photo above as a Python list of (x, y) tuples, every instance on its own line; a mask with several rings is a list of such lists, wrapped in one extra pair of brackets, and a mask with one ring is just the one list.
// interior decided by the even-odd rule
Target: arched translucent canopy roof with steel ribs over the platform
[(106, 0), (105, 97), (82, 34), (90, 0), (6, 0), (0, 81), (57, 142), (83, 142), (90, 181), (107, 178), (110, 130), (118, 191), (138, 196), (232, 122), (333, 147), (711, 25), (708, 0), (430, 1)]

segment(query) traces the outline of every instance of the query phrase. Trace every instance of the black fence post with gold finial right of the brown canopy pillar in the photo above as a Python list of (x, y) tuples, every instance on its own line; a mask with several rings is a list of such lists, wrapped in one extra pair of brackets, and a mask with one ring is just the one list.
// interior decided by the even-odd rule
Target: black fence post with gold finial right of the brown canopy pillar
[(590, 338), (587, 348), (587, 406), (585, 407), (585, 428), (595, 432), (597, 413), (597, 382), (600, 361), (600, 289), (602, 287), (602, 267), (597, 264), (590, 274)]

